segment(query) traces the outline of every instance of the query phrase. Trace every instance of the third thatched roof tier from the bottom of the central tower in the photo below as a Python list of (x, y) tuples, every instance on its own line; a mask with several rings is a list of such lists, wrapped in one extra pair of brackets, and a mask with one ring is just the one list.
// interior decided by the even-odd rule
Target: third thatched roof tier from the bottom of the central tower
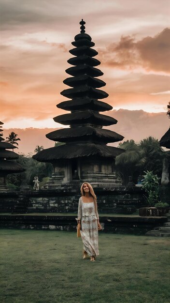
[(112, 117), (101, 115), (92, 110), (76, 111), (71, 114), (64, 114), (53, 118), (55, 122), (70, 125), (70, 124), (96, 124), (96, 125), (112, 125), (116, 124), (117, 120)]

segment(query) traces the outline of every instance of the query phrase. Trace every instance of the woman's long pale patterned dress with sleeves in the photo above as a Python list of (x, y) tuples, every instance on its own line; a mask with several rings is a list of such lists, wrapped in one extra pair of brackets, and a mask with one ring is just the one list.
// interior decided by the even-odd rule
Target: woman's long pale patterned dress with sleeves
[(89, 256), (99, 256), (98, 247), (98, 210), (95, 211), (94, 202), (83, 202), (79, 199), (78, 220), (81, 220), (81, 237), (83, 248)]

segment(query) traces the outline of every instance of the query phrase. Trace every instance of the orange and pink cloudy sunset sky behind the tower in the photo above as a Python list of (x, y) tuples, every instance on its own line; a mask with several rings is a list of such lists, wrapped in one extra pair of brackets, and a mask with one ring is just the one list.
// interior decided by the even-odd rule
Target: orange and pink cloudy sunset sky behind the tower
[[(101, 61), (104, 91), (109, 93), (103, 101), (113, 106), (113, 112), (105, 114), (119, 117), (117, 128), (110, 129), (126, 135), (125, 139), (135, 137), (137, 128), (137, 139), (149, 135), (160, 139), (169, 127), (169, 15), (169, 0), (1, 0), (0, 121), (4, 134), (17, 129), (25, 140), (20, 134), (26, 128), (33, 136), (29, 128), (63, 127), (52, 118), (66, 113), (56, 105), (66, 100), (60, 91), (69, 87), (62, 81), (68, 76), (71, 42), (83, 18), (86, 33), (99, 52), (95, 58)], [(139, 113), (145, 125), (132, 119)], [(157, 119), (155, 128), (152, 119)], [(139, 135), (142, 126), (146, 133)], [(45, 146), (46, 141), (45, 136), (44, 141), (35, 139), (38, 145)], [(21, 152), (32, 152), (32, 148), (25, 145)]]

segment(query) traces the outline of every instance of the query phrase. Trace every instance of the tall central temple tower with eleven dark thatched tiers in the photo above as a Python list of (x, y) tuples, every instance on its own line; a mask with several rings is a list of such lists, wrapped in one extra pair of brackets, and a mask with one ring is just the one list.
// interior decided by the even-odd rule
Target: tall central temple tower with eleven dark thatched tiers
[(113, 107), (98, 100), (108, 97), (105, 91), (99, 90), (106, 83), (97, 78), (103, 75), (95, 67), (100, 64), (94, 58), (98, 52), (92, 48), (95, 44), (85, 33), (83, 19), (80, 24), (81, 31), (71, 43), (75, 48), (70, 53), (75, 57), (68, 60), (74, 66), (66, 70), (71, 77), (63, 81), (71, 88), (61, 92), (71, 100), (57, 105), (71, 113), (54, 118), (54, 121), (70, 125), (70, 128), (46, 135), (50, 140), (66, 144), (42, 150), (33, 156), (38, 161), (53, 164), (53, 176), (44, 188), (55, 188), (60, 184), (78, 185), (84, 181), (103, 187), (122, 184), (115, 175), (114, 159), (124, 150), (108, 146), (107, 143), (120, 141), (124, 137), (102, 128), (116, 124), (117, 120), (99, 113)]

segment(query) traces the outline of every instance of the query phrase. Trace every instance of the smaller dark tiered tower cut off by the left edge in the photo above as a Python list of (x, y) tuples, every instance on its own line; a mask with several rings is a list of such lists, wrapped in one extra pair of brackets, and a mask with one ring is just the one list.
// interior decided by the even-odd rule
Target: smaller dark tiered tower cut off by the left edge
[[(16, 146), (3, 142), (4, 138), (2, 138), (2, 125), (3, 123), (0, 121), (0, 192), (6, 192), (6, 177), (8, 174), (13, 173), (21, 173), (25, 171), (25, 169), (19, 164), (11, 160), (18, 159), (19, 156), (15, 152), (7, 151), (10, 149), (16, 148)], [(7, 150), (6, 150), (7, 149)]]

